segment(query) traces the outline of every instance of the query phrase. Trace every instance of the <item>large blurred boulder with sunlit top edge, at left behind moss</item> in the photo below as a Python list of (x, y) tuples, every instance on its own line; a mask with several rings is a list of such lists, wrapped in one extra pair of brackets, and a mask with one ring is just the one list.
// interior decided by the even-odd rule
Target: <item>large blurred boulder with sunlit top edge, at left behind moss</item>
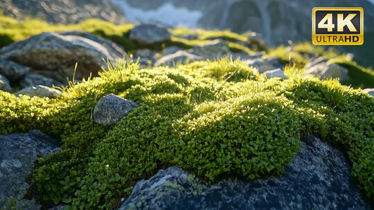
[(73, 78), (76, 63), (75, 79), (81, 79), (90, 73), (96, 76), (101, 66), (106, 66), (103, 59), (116, 61), (125, 56), (120, 46), (85, 32), (44, 32), (0, 50), (0, 59), (15, 61), (60, 82)]

